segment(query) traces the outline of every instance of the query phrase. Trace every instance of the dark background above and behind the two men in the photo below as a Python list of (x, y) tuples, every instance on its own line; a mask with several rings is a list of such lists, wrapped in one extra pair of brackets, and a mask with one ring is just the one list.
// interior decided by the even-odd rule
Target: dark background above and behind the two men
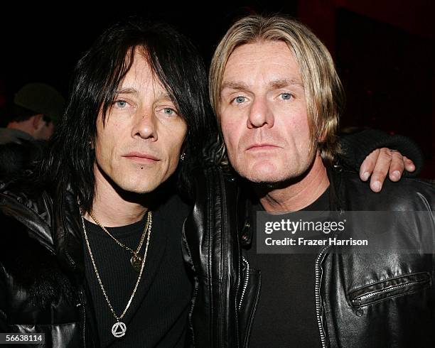
[(176, 5), (164, 1), (60, 4), (2, 10), (0, 106), (27, 82), (68, 95), (70, 73), (104, 28), (139, 14), (192, 38), (208, 65), (215, 45), (240, 16), (286, 13), (326, 43), (348, 102), (342, 126), (370, 126), (413, 138), (435, 178), (435, 1), (286, 0)]

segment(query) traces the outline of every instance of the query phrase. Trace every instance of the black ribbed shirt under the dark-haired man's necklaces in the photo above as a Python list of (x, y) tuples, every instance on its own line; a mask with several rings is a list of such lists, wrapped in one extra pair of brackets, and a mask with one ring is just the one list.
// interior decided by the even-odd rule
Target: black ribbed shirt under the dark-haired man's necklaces
[[(102, 294), (84, 242), (85, 276), (102, 347), (184, 347), (193, 290), (181, 251), (181, 231), (188, 212), (188, 205), (176, 195), (152, 211), (146, 263), (136, 295), (121, 320), (127, 325), (126, 335), (122, 338), (112, 335), (116, 320)], [(136, 249), (144, 231), (145, 217), (140, 222), (108, 230), (123, 244)], [(96, 224), (85, 220), (85, 226), (104, 290), (119, 316), (129, 301), (139, 273), (131, 266), (129, 251)], [(146, 239), (141, 256), (145, 246)]]

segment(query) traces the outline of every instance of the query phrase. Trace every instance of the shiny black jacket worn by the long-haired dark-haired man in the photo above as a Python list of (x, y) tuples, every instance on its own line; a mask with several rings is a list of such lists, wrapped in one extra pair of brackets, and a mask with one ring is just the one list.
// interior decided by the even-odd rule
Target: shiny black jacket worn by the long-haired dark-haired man
[(0, 189), (0, 332), (43, 332), (41, 347), (98, 347), (75, 195)]

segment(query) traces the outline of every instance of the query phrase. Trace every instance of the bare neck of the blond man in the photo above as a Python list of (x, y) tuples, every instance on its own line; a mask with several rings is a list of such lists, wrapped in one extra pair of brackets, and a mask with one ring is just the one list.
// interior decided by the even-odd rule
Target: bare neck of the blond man
[(328, 186), (326, 167), (317, 153), (313, 165), (300, 180), (286, 187), (272, 188), (259, 200), (267, 212), (294, 212), (315, 202)]

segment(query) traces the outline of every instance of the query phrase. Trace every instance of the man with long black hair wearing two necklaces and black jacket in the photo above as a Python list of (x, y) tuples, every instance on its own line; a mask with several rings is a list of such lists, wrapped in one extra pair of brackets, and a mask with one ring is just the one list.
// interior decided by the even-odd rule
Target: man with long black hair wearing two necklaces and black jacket
[(206, 82), (193, 45), (163, 24), (118, 23), (87, 50), (36, 180), (0, 187), (0, 332), (53, 347), (186, 344), (190, 207), (175, 186), (192, 192), (216, 137)]

